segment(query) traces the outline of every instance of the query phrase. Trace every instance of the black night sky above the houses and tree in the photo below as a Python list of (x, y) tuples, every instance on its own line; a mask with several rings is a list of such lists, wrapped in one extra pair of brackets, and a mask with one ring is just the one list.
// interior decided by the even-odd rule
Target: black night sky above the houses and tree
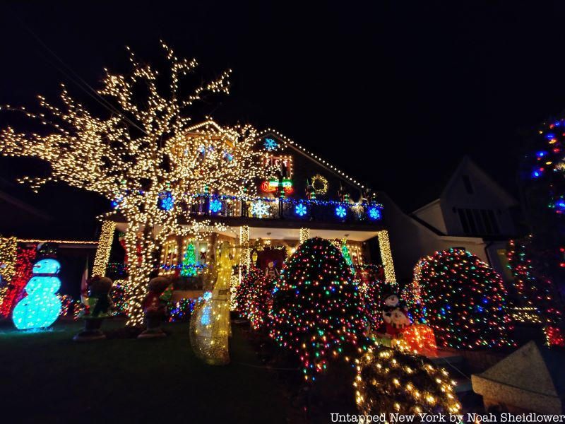
[[(29, 30), (95, 87), (103, 67), (126, 69), (124, 45), (154, 61), (162, 38), (196, 57), (204, 75), (233, 69), (232, 94), (213, 113), (220, 122), (272, 126), (403, 206), (420, 206), (422, 186), (464, 154), (515, 191), (521, 131), (564, 109), (564, 9), (559, 1), (4, 2), (0, 103), (53, 98), (59, 82), (83, 95)], [(14, 163), (2, 159), (4, 178)]]

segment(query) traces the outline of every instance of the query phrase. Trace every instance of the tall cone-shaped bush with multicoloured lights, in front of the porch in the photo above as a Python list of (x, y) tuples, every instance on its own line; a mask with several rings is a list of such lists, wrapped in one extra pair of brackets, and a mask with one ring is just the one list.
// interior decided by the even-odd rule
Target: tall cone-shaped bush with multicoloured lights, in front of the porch
[(275, 283), (270, 337), (295, 352), (304, 378), (314, 380), (328, 361), (364, 348), (366, 325), (357, 283), (340, 249), (320, 237), (306, 240)]

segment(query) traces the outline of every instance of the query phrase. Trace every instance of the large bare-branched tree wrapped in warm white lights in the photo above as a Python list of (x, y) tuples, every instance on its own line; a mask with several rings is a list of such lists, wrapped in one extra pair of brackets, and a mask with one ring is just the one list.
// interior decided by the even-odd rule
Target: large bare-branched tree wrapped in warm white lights
[(45, 135), (22, 134), (11, 127), (0, 132), (3, 155), (35, 156), (52, 167), (50, 177), (25, 177), (24, 182), (35, 190), (44, 182), (61, 181), (96, 192), (126, 218), (126, 254), (139, 259), (129, 263), (129, 325), (142, 322), (141, 300), (160, 243), (172, 233), (198, 240), (213, 229), (210, 221), (197, 221), (190, 215), (195, 194), (205, 189), (249, 194), (254, 179), (275, 175), (263, 160), (266, 153), (254, 148), (258, 134), (252, 126), (191, 123), (189, 109), (195, 102), (211, 93), (229, 92), (230, 71), (185, 93), (180, 83), (194, 73), (197, 62), (179, 59), (167, 45), (162, 47), (170, 66), (168, 90), (160, 89), (166, 77), (138, 61), (128, 49), (131, 73), (105, 70), (98, 91), (100, 102), (109, 110), (106, 116), (71, 98), (64, 86), (62, 107), (42, 97), (43, 110), (35, 114), (1, 107), (24, 112), (52, 129)]

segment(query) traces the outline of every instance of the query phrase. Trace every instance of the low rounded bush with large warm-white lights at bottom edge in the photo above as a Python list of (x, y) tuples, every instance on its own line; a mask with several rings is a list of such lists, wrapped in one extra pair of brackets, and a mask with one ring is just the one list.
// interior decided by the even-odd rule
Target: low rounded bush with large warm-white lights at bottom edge
[(391, 348), (374, 348), (355, 360), (359, 413), (457, 414), (461, 404), (448, 372), (431, 360)]

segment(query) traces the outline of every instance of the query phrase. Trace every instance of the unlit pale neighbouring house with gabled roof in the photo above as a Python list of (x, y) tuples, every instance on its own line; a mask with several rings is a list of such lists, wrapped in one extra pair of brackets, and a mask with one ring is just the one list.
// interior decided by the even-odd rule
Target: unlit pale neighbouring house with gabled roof
[(506, 245), (516, 235), (511, 213), (516, 199), (468, 157), (427, 196), (424, 206), (406, 214), (379, 195), (399, 281), (412, 278), (421, 257), (450, 247), (464, 247), (509, 280)]

